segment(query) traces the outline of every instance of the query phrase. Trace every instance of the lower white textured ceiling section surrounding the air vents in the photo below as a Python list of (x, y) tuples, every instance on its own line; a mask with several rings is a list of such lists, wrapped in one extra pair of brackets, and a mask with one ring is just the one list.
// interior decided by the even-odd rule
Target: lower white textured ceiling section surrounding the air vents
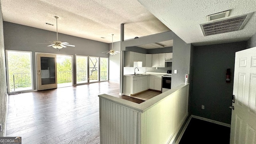
[[(248, 40), (256, 32), (256, 0), (138, 0), (186, 43), (194, 46)], [(230, 16), (254, 12), (242, 30), (204, 36), (206, 16), (230, 11)]]

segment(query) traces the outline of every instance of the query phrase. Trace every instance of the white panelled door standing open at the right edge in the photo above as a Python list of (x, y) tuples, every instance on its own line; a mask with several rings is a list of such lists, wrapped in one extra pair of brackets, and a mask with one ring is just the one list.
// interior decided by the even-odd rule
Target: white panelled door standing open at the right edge
[(256, 144), (256, 47), (236, 52), (230, 144)]

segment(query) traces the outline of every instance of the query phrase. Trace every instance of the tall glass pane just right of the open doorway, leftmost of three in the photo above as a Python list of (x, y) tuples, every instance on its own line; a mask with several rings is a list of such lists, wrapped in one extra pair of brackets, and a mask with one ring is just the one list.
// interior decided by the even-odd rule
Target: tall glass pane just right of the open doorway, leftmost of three
[(87, 56), (76, 56), (76, 84), (87, 83)]

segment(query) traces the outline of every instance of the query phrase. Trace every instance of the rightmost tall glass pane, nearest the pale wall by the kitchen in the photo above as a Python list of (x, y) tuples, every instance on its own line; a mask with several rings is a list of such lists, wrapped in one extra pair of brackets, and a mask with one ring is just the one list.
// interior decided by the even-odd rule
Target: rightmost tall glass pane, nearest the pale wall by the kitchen
[(108, 80), (108, 58), (100, 58), (100, 81)]

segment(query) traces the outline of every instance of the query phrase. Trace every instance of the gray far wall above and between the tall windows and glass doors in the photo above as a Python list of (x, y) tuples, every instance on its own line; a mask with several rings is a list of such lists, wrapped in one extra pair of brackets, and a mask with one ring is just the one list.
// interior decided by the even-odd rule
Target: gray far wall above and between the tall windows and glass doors
[[(94, 40), (88, 40), (85, 38), (79, 38), (66, 34), (58, 33), (58, 40), (62, 42), (69, 42), (75, 45), (75, 47), (68, 46), (62, 48), (60, 51), (52, 47), (47, 47), (49, 41), (56, 40), (56, 32), (48, 30), (42, 30), (20, 24), (14, 24), (10, 22), (4, 22), (4, 46), (6, 50), (22, 50), (32, 51), (32, 66), (34, 76), (34, 89), (36, 89), (36, 64), (35, 64), (35, 52), (51, 53), (51, 54), (67, 54), (73, 56), (75, 61), (75, 55), (82, 56), (99, 56), (108, 57), (109, 54), (102, 53), (109, 50), (109, 44), (104, 42), (98, 42)], [(73, 64), (75, 66), (75, 64)], [(74, 74), (76, 73), (74, 67)], [(75, 76), (74, 76), (75, 78)]]

